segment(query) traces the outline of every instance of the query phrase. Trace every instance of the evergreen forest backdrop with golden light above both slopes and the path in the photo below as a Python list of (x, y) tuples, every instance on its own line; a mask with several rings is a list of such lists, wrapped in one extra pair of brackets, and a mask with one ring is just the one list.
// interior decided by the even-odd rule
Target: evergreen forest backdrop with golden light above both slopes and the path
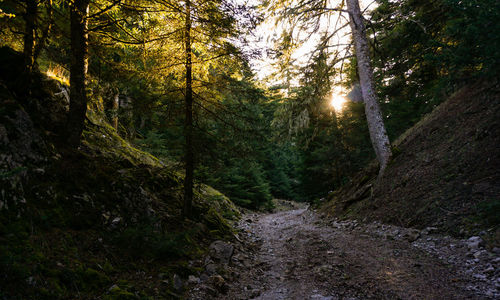
[[(378, 0), (363, 13), (390, 140), (466, 83), (498, 78), (498, 1)], [(360, 81), (348, 18), (342, 1), (3, 0), (0, 43), (23, 53), (26, 72), (85, 96), (70, 105), (76, 145), (88, 107), (184, 169), (185, 197), (205, 183), (266, 208), (325, 197), (376, 156), (363, 102), (330, 105)], [(281, 25), (259, 48), (270, 19)]]

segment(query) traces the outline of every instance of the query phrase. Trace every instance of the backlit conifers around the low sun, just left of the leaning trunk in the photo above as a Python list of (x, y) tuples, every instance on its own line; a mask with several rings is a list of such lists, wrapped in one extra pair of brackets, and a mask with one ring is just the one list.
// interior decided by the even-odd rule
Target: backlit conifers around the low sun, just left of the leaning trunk
[[(320, 52), (301, 69), (300, 86), (277, 108), (274, 124), (295, 144), (293, 190), (314, 201), (339, 188), (373, 158), (364, 106), (347, 103), (341, 112), (329, 105), (333, 77), (330, 55)], [(346, 72), (353, 70), (346, 66)]]

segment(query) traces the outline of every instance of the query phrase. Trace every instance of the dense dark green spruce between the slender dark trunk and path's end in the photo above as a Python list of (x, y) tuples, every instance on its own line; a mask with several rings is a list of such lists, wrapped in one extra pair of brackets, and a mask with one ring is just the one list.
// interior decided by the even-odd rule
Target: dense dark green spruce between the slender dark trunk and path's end
[(205, 159), (198, 175), (245, 207), (264, 207), (272, 197), (293, 198), (292, 155), (273, 140), (275, 104), (249, 78), (225, 80), (223, 101), (214, 107), (225, 117), (207, 120), (210, 135), (199, 147)]

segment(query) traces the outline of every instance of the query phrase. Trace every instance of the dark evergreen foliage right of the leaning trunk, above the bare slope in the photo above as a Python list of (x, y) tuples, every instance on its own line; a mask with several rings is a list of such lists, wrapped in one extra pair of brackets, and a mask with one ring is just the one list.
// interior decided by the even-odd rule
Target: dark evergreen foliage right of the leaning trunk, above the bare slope
[(465, 82), (498, 77), (498, 1), (380, 1), (372, 12), (379, 95), (391, 139)]

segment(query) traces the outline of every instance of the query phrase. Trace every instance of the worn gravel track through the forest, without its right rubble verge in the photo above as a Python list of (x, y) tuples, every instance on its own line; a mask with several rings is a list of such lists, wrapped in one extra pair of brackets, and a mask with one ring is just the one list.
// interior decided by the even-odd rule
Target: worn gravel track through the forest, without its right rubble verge
[[(460, 272), (412, 246), (332, 226), (308, 208), (240, 222), (224, 291), (216, 299), (475, 299)], [(351, 225), (349, 225), (351, 224)], [(203, 296), (205, 299), (209, 296)], [(202, 298), (203, 298), (202, 297)], [(194, 297), (197, 298), (197, 297)]]

